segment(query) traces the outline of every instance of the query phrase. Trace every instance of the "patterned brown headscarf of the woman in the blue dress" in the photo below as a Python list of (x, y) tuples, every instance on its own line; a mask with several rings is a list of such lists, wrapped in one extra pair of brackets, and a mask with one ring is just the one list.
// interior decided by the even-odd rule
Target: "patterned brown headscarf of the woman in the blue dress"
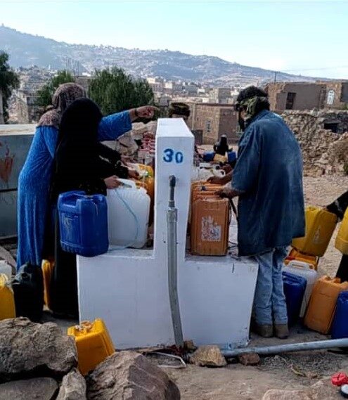
[(37, 126), (56, 127), (58, 129), (63, 112), (73, 101), (82, 97), (86, 97), (86, 91), (79, 84), (61, 84), (52, 97), (53, 109), (42, 115)]

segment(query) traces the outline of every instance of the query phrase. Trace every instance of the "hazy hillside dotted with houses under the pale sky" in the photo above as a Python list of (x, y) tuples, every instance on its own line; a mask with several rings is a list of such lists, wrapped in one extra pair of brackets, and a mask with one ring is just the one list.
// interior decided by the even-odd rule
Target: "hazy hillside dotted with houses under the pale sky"
[[(66, 44), (0, 27), (0, 50), (11, 56), (13, 67), (72, 68), (92, 72), (117, 65), (137, 77), (160, 76), (165, 79), (210, 84), (247, 84), (271, 81), (274, 72), (230, 63), (211, 56), (191, 56), (180, 51), (124, 49), (112, 46)], [(278, 73), (280, 81), (314, 81), (315, 78)]]

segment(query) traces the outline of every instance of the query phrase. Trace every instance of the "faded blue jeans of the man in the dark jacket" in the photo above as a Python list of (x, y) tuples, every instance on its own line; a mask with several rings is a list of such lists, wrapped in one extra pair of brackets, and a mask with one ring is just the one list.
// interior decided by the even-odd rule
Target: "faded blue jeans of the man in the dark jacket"
[(282, 278), (286, 255), (286, 247), (279, 247), (254, 256), (259, 264), (254, 297), (254, 318), (259, 325), (288, 323)]

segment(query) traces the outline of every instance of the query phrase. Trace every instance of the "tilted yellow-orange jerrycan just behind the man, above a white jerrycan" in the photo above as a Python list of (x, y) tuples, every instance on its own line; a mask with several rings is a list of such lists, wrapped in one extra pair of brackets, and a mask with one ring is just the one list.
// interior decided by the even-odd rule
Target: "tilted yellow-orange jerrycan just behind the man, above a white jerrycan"
[(304, 254), (323, 256), (337, 223), (335, 214), (320, 207), (306, 209), (306, 236), (292, 240), (292, 247)]

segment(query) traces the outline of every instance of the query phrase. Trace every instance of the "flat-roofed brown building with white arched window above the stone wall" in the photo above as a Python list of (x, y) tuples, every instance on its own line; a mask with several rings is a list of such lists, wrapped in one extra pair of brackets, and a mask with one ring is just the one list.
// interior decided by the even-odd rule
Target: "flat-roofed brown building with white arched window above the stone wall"
[(346, 108), (348, 82), (315, 82), (268, 84), (271, 110), (311, 110), (313, 108)]

